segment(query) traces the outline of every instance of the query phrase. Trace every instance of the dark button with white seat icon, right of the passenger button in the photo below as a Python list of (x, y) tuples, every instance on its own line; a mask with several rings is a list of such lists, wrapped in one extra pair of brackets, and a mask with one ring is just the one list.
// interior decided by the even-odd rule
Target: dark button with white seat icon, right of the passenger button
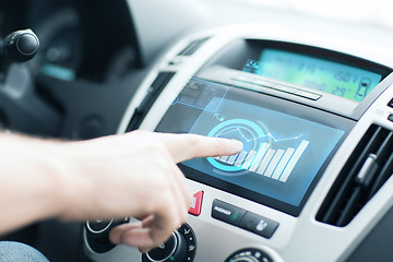
[(263, 216), (247, 212), (241, 218), (239, 226), (265, 238), (271, 238), (278, 227), (278, 223)]

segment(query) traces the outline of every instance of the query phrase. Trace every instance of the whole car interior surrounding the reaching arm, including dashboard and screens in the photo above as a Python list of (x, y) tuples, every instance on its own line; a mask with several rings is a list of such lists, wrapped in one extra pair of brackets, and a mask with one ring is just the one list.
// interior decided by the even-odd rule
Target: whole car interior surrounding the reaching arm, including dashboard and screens
[(243, 151), (178, 164), (188, 221), (147, 253), (108, 239), (134, 217), (0, 240), (52, 262), (391, 261), (392, 29), (383, 0), (1, 1), (2, 130), (196, 133)]

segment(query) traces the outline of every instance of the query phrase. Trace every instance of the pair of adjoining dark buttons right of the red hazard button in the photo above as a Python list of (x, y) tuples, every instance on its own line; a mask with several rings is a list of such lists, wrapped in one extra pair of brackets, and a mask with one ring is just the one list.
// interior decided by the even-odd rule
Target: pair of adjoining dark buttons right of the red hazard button
[(278, 223), (274, 221), (267, 219), (249, 211), (245, 211), (221, 200), (213, 201), (212, 217), (252, 231), (265, 238), (271, 238), (278, 227)]

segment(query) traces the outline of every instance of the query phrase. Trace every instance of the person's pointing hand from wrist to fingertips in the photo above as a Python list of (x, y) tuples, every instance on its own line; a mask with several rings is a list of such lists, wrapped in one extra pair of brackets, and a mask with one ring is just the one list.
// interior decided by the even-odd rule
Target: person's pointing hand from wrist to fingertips
[(87, 187), (84, 184), (83, 196), (72, 205), (76, 209), (67, 215), (79, 219), (142, 218), (118, 226), (109, 235), (114, 243), (138, 247), (142, 252), (164, 242), (187, 219), (192, 194), (176, 164), (242, 150), (239, 141), (145, 131), (83, 143), (78, 148), (84, 162), (79, 180)]

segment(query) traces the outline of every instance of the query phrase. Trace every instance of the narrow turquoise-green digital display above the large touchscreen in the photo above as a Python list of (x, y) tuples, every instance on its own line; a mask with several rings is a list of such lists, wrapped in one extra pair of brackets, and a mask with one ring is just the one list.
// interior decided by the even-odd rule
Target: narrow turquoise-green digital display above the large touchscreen
[(378, 73), (306, 55), (265, 48), (253, 73), (361, 102), (381, 81)]

